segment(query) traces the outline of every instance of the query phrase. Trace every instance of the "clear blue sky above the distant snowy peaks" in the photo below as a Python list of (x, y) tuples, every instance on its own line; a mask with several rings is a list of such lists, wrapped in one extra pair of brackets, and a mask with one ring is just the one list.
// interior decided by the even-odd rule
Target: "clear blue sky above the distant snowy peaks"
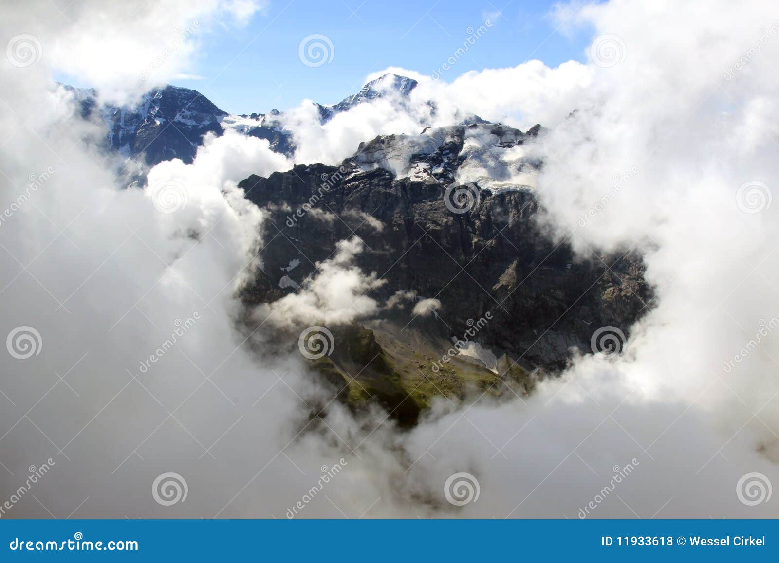
[[(243, 29), (203, 36), (193, 74), (174, 81), (201, 91), (234, 113), (266, 112), (309, 98), (335, 103), (361, 87), (365, 76), (389, 66), (431, 74), (468, 36), (488, 29), (445, 79), (469, 70), (515, 66), (527, 58), (558, 65), (583, 60), (587, 40), (555, 30), (553, 2), (527, 0), (271, 0)], [(502, 12), (502, 15), (498, 12)], [(298, 45), (320, 33), (333, 43), (333, 59), (309, 68)]]

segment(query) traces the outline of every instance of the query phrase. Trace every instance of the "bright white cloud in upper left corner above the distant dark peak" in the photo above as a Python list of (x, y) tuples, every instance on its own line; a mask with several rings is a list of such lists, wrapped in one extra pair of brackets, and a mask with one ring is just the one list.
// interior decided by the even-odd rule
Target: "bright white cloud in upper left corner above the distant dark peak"
[(3, 5), (3, 39), (16, 65), (42, 62), (129, 102), (187, 69), (204, 34), (243, 26), (263, 0), (100, 2), (48, 0)]

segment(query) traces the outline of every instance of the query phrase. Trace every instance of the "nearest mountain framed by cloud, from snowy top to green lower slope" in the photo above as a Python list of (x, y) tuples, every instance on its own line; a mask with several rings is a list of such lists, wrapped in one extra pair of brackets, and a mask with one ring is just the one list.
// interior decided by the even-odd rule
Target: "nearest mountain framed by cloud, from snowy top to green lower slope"
[[(608, 328), (623, 340), (646, 311), (643, 263), (578, 259), (541, 230), (531, 150), (540, 134), (538, 125), (428, 128), (363, 143), (340, 167), (245, 179), (269, 219), (244, 300), (305, 289), (339, 241), (358, 237), (354, 263), (380, 280), (368, 296), (382, 308), (329, 327), (337, 352), (317, 365), (347, 383), (349, 400), (373, 396), (409, 424), (432, 396), (526, 393), (573, 354), (613, 351), (592, 350), (594, 336)], [(467, 345), (452, 350), (457, 341)]]

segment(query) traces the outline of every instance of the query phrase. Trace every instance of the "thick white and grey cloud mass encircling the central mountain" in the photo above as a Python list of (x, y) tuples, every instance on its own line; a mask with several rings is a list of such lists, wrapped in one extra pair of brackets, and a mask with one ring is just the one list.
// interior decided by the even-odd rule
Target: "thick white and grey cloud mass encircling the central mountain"
[[(190, 5), (155, 21), (231, 24), (256, 8)], [(294, 297), (253, 315), (238, 300), (273, 240), (258, 239), (263, 211), (237, 182), (286, 159), (224, 135), (192, 164), (164, 162), (146, 188), (125, 189), (94, 148), (100, 132), (51, 93), (52, 69), (132, 90), (135, 75), (90, 44), (126, 41), (143, 69), (164, 41), (132, 18), (141, 2), (122, 6), (132, 26), (96, 20), (122, 14), (91, 2), (66, 25), (3, 8), (4, 40), (30, 33), (40, 46), (0, 61), (2, 517), (779, 515), (769, 2), (710, 3), (705, 18), (693, 2), (561, 7), (566, 25), (594, 30), (586, 64), (431, 79), (405, 114), (380, 100), (322, 126), (300, 108), (298, 160), (418, 133), (420, 100), (438, 100), (439, 125), (458, 112), (543, 123), (537, 190), (550, 233), (583, 257), (643, 252), (656, 288), (621, 355), (577, 357), (530, 397), (439, 399), (404, 432), (378, 407), (355, 420), (327, 403), (297, 350), (270, 354), (273, 331), (329, 322), (369, 287), (351, 266), (357, 241)], [(184, 72), (185, 60), (160, 72)], [(361, 299), (348, 320), (386, 305)]]

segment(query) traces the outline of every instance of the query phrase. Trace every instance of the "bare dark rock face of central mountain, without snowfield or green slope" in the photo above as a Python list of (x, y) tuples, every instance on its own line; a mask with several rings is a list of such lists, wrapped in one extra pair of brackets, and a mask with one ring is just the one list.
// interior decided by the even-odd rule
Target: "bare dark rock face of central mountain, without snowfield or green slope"
[[(470, 126), (476, 127), (504, 148), (521, 146), (538, 133), (538, 128), (523, 134), (499, 125)], [(245, 290), (245, 301), (275, 301), (296, 290), (316, 275), (315, 264), (333, 255), (338, 241), (356, 235), (365, 244), (355, 263), (385, 280), (369, 296), (384, 303), (398, 291), (414, 292), (407, 294), (414, 297), (406, 308), (382, 311), (380, 322), (366, 323), (382, 345), (421, 335), (432, 343), (425, 350), (428, 359), (437, 359), (453, 338), (464, 337), (473, 319), (490, 313), (492, 320), (475, 340), (498, 358), (506, 354), (503, 366), (517, 361), (525, 370), (554, 371), (574, 347), (590, 353), (590, 339), (603, 326), (627, 335), (651, 298), (639, 257), (576, 259), (567, 241), (552, 241), (539, 229), (538, 201), (530, 188), (479, 190), (478, 202), (464, 213), (446, 206), (446, 186), (467, 160), (467, 130), (448, 128), (435, 150), (412, 153), (410, 167), (430, 167), (407, 178), (382, 167), (365, 170), (408, 143), (379, 137), (341, 167), (297, 166), (242, 181), (246, 197), (270, 213), (260, 254), (263, 271)], [(435, 315), (415, 316), (411, 309), (421, 298), (438, 299), (442, 307)], [(397, 354), (407, 352), (395, 347), (391, 355), (397, 363)], [(423, 364), (424, 358), (414, 368)], [(427, 368), (421, 371), (430, 378), (442, 376)]]

